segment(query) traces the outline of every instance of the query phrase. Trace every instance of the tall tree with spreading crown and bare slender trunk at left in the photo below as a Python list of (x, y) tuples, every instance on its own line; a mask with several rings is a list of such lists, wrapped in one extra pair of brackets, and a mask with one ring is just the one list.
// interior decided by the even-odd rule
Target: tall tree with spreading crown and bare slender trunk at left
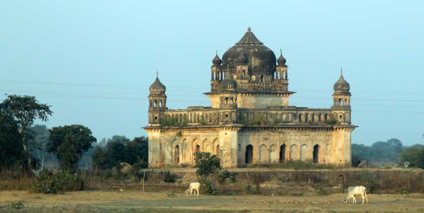
[(34, 96), (8, 95), (0, 103), (0, 111), (10, 115), (18, 125), (18, 131), (22, 135), (22, 146), (27, 154), (28, 166), (31, 166), (31, 155), (27, 150), (27, 128), (30, 127), (35, 119), (47, 121), (53, 114), (50, 106), (39, 103)]

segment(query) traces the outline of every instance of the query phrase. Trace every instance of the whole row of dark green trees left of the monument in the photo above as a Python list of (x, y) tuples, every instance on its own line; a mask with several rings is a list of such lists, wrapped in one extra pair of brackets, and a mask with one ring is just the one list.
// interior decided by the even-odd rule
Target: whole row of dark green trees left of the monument
[(147, 137), (114, 136), (97, 142), (83, 125), (51, 129), (33, 125), (36, 119), (47, 121), (53, 115), (50, 108), (27, 95), (8, 95), (0, 103), (0, 167), (31, 170), (49, 164), (66, 170), (92, 165), (109, 169), (122, 162), (147, 167)]

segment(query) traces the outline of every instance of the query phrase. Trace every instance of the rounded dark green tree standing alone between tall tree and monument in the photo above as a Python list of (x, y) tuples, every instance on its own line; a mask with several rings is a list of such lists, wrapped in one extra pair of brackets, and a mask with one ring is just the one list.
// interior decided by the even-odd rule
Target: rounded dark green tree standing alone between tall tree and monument
[(82, 125), (58, 126), (50, 131), (47, 150), (54, 153), (62, 168), (71, 169), (87, 151), (93, 142), (96, 142), (91, 130)]

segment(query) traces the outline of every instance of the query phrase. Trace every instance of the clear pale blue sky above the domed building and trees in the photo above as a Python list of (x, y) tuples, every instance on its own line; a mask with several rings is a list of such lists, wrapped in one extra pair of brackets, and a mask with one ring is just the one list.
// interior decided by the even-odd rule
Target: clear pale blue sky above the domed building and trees
[[(343, 66), (352, 142), (423, 143), (424, 1), (7, 0), (0, 93), (52, 105), (48, 127), (146, 135), (156, 70), (168, 107), (209, 105), (210, 67), (251, 26), (289, 66), (291, 105), (330, 107)], [(277, 55), (278, 56), (278, 55)], [(0, 100), (4, 99), (0, 95)]]

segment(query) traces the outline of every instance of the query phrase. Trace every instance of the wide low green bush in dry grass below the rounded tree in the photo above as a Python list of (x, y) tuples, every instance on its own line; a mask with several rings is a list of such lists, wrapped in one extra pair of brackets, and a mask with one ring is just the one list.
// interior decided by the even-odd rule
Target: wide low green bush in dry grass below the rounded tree
[(84, 189), (84, 181), (69, 170), (53, 171), (44, 168), (37, 179), (38, 183), (32, 189), (39, 193), (57, 194)]

